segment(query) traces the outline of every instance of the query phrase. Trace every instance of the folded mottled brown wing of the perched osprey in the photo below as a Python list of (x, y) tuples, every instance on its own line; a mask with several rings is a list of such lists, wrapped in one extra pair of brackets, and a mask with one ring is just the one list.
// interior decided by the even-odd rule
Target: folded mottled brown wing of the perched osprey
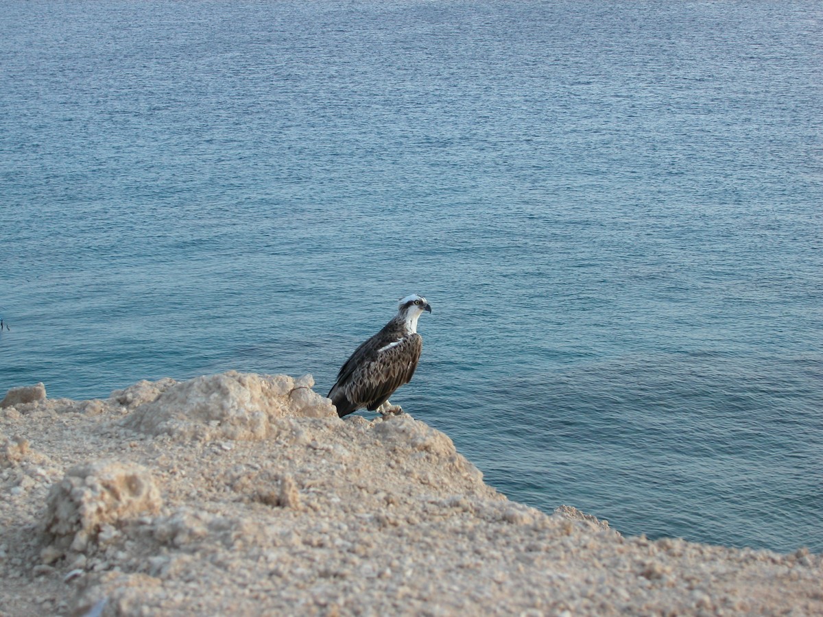
[(352, 371), (346, 383), (346, 398), (374, 411), (398, 387), (412, 380), (422, 350), (422, 336), (412, 334), (379, 351)]

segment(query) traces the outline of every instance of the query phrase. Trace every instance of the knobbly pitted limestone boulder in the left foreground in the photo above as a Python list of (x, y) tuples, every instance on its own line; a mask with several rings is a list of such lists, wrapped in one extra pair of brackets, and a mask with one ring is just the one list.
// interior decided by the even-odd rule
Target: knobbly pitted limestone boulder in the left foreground
[[(160, 491), (145, 467), (133, 463), (89, 462), (70, 469), (49, 490), (42, 528), (47, 563), (81, 553), (111, 524), (156, 513)], [(107, 524), (109, 526), (107, 527)]]

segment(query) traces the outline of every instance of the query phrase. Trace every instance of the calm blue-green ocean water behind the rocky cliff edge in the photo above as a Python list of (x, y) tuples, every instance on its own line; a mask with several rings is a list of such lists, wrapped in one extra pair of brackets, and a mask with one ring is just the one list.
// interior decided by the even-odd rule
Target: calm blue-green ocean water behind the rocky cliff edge
[(325, 394), (417, 292), (392, 400), (510, 498), (823, 551), (819, 2), (0, 12), (0, 396)]

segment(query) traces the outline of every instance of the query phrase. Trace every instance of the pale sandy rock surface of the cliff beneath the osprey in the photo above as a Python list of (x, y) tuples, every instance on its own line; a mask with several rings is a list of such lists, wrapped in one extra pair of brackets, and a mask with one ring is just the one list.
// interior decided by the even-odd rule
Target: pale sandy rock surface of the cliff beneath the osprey
[(0, 615), (823, 615), (823, 560), (626, 538), (309, 376), (0, 409)]

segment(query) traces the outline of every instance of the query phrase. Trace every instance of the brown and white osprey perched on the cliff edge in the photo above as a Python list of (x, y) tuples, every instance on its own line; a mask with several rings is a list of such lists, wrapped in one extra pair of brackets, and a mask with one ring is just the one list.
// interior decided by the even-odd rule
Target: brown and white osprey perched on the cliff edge
[(398, 314), (346, 360), (337, 373), (337, 383), (328, 392), (337, 415), (342, 418), (364, 407), (380, 413), (402, 413), (388, 397), (412, 381), (423, 349), (423, 337), (417, 334), (417, 318), (423, 311), (431, 313), (431, 307), (422, 296), (401, 298)]

